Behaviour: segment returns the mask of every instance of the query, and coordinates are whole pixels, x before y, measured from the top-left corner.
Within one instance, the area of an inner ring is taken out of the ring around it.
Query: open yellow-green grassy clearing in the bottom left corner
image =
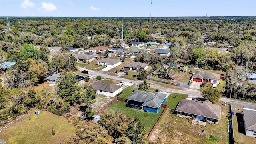
[[[30,110],[23,118],[4,129],[0,139],[8,144],[64,144],[67,138],[75,135],[75,129],[64,117],[42,110],[36,115]]]

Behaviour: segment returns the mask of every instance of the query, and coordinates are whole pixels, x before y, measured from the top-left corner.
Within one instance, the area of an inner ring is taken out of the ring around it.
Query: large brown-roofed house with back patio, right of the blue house
[[[180,100],[176,108],[177,116],[193,117],[197,120],[205,120],[218,124],[221,118],[221,106],[212,104],[209,100]]]

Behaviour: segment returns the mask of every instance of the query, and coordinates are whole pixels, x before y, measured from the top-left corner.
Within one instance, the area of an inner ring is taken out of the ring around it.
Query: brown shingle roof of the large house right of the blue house
[[[221,106],[212,104],[209,100],[201,102],[197,100],[182,99],[180,100],[176,111],[204,116],[207,118],[214,118],[217,120],[220,120],[221,118]]]

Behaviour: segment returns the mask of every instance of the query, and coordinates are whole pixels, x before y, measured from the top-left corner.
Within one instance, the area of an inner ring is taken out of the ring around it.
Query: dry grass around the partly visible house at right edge
[[[233,115],[233,128],[234,128],[234,138],[235,138],[235,144],[256,144],[256,138],[246,136],[244,126],[238,126],[238,120],[241,121],[242,115],[237,114],[236,112],[241,112],[243,110],[242,105],[232,104],[232,111],[235,112],[235,115]],[[236,108],[236,110],[234,110]]]

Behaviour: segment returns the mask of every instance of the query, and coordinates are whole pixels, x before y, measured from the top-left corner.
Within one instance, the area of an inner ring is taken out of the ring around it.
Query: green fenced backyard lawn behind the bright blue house
[[[109,106],[107,109],[109,112],[122,112],[126,116],[130,118],[139,118],[140,122],[145,126],[146,128],[146,136],[150,132],[150,130],[153,128],[154,124],[162,114],[164,108],[161,108],[158,114],[152,113],[152,112],[143,112],[141,110],[135,110],[133,108],[127,108],[125,102],[116,101],[114,104]]]

